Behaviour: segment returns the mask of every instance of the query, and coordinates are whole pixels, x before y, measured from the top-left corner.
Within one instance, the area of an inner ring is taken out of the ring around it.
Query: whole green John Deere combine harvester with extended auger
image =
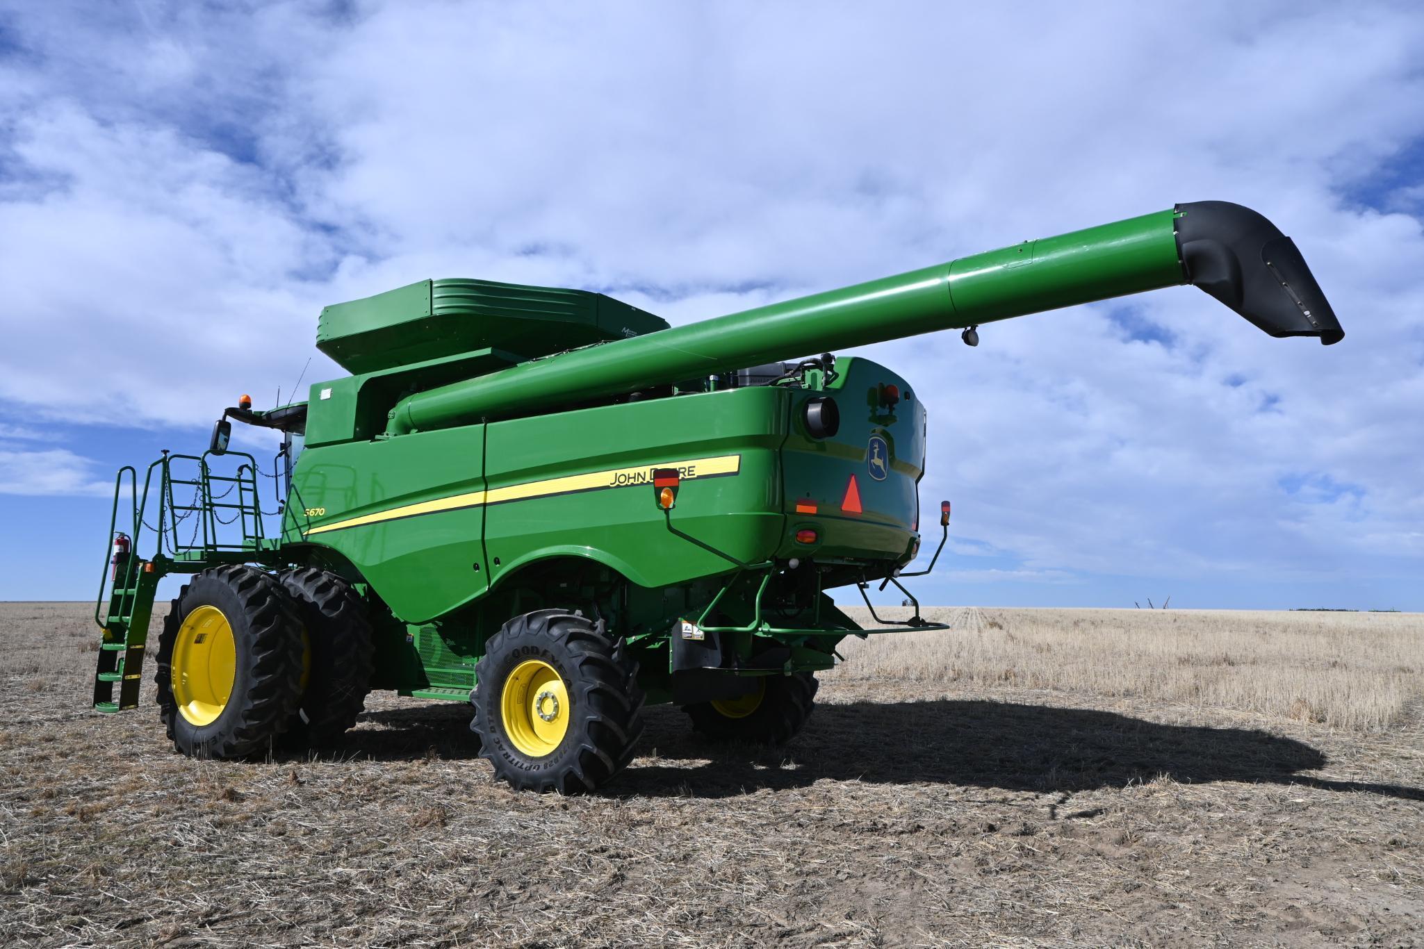
[[[155,588],[189,573],[152,663],[184,754],[332,743],[372,689],[470,701],[498,777],[540,791],[618,774],[645,700],[786,741],[836,643],[880,632],[824,590],[911,576],[926,411],[870,360],[782,360],[946,329],[974,346],[983,323],[1186,283],[1270,336],[1343,336],[1294,243],[1225,202],[676,329],[486,280],[329,306],[316,346],[350,376],[244,397],[141,488],[120,471],[94,707],[137,707]],[[283,433],[272,475],[229,420]],[[286,495],[276,536],[259,477]],[[899,629],[944,626],[916,608]]]

